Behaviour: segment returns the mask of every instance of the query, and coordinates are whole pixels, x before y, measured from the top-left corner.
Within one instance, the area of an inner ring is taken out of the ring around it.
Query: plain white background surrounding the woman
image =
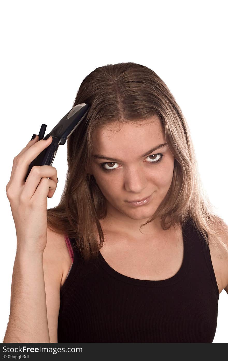
[[[1,307],[0,342],[10,312],[16,231],[5,186],[12,162],[72,108],[83,79],[98,66],[135,62],[162,78],[190,127],[205,190],[228,224],[226,1],[4,1],[1,3]],[[57,205],[66,146],[53,166]],[[228,295],[218,303],[213,342],[228,342]]]

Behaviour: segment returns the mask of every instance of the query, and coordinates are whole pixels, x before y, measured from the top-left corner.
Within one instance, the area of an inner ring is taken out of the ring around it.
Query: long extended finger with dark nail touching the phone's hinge
[[[25,184],[25,177],[29,168],[30,163],[52,142],[52,136],[47,140],[39,140],[28,147],[25,152],[17,157],[14,166],[12,185],[15,187],[22,186]],[[48,175],[47,175],[48,177]]]

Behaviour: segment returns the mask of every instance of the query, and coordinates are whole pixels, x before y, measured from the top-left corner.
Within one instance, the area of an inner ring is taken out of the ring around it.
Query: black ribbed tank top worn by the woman
[[[60,290],[58,342],[211,343],[219,290],[210,250],[190,221],[182,232],[182,265],[164,280],[120,274],[100,252],[85,265],[75,249]]]

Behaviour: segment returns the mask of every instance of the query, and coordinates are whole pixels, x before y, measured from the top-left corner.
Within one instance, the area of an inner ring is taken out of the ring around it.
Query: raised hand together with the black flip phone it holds
[[[43,139],[39,136],[14,158],[6,194],[10,202],[17,233],[17,252],[43,252],[47,244],[47,197],[56,190],[57,170],[52,165],[58,146],[65,144],[86,116],[89,105],[75,105]],[[29,169],[28,169],[29,167]]]

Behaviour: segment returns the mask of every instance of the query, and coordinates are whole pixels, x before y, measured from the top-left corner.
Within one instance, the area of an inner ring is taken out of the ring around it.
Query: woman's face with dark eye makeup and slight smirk
[[[115,123],[93,134],[91,174],[106,198],[108,214],[117,218],[150,218],[172,181],[174,156],[168,146],[151,150],[166,143],[161,121],[153,116],[140,124],[124,123],[119,130]],[[128,203],[148,196],[144,205]]]

